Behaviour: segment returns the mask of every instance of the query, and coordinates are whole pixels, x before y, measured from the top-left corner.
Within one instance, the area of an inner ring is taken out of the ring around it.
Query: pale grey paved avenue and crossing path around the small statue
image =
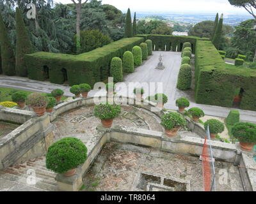
[[[159,62],[159,54],[163,55],[163,63],[166,67],[164,70],[155,69]],[[180,52],[154,52],[154,54],[148,57],[148,60],[143,63],[142,66],[135,69],[134,73],[126,75],[124,77],[124,83],[117,84],[118,94],[128,94],[134,96],[132,87],[122,89],[123,85],[127,85],[128,82],[160,82],[163,83],[163,92],[168,96],[168,103],[165,108],[176,110],[175,100],[181,96],[188,97],[192,102],[190,107],[198,107],[204,110],[206,115],[212,115],[216,117],[227,117],[230,110],[239,110],[236,108],[224,108],[220,106],[212,105],[200,105],[196,104],[193,97],[189,96],[189,92],[181,92],[176,89],[177,77],[179,75],[179,68],[181,63]],[[142,84],[143,85],[143,84]],[[144,84],[147,85],[147,84]],[[135,84],[136,87],[139,87]],[[13,89],[23,89],[26,91],[37,91],[50,93],[53,89],[62,89],[65,92],[65,96],[74,96],[69,92],[70,87],[65,85],[51,84],[50,82],[38,82],[35,80],[29,80],[22,77],[7,77],[0,75],[0,87],[8,87]],[[150,93],[145,93],[145,96],[154,95],[157,91],[157,85],[154,89],[150,89]],[[89,96],[94,96],[96,91],[91,91]],[[105,91],[97,91],[97,95],[105,94]],[[241,120],[256,122],[256,112],[249,110],[239,110],[241,113]]]

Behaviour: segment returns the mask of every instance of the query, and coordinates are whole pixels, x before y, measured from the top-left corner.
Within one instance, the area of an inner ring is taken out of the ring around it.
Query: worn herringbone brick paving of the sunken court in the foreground
[[[231,163],[220,161],[216,161],[215,165],[217,191],[243,191],[237,167]],[[226,183],[225,181],[222,182],[221,179],[223,171],[227,172],[228,175]],[[159,150],[112,142],[105,145],[84,177],[82,191],[132,191],[134,181],[136,181],[136,177],[141,175],[141,172],[147,172],[152,176],[150,176],[151,179],[146,180],[146,183],[144,181],[144,184],[137,185],[135,182],[138,191],[147,191],[147,182],[151,185],[152,182],[153,185],[156,184],[155,186],[159,185],[159,181],[154,175],[190,182],[191,191],[203,190],[202,162],[198,157],[170,154]],[[155,191],[184,190],[184,188],[177,186],[173,187],[173,182],[164,189],[161,189],[161,186],[153,187]]]

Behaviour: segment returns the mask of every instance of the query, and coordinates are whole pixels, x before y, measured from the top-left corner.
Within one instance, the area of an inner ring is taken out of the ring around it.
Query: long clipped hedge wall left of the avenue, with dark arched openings
[[[68,80],[70,86],[89,84],[93,87],[96,82],[104,81],[109,77],[113,57],[123,57],[125,51],[131,51],[143,41],[144,38],[141,37],[124,38],[80,55],[50,52],[28,54],[25,55],[28,77],[44,81],[46,79],[44,69],[48,68],[51,83],[63,84]]]

